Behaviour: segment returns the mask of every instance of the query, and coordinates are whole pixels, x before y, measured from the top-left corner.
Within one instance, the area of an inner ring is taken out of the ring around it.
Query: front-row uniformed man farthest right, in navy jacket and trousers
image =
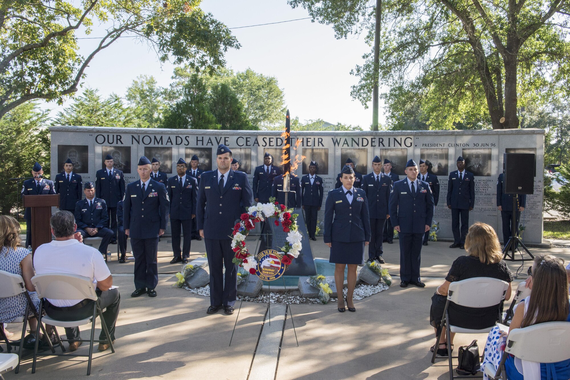
[[[417,178],[414,160],[406,164],[406,178],[396,181],[390,194],[390,219],[400,240],[400,286],[425,287],[420,280],[420,254],[424,234],[433,219],[434,203],[427,182]]]

